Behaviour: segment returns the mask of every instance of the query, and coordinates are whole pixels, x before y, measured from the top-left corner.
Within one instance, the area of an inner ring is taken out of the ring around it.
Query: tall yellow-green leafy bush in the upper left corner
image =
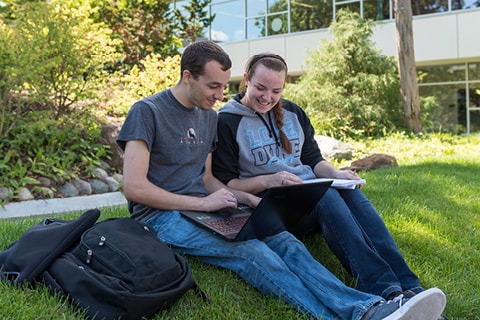
[[[88,6],[63,1],[24,3],[11,22],[15,41],[7,79],[18,78],[11,92],[21,92],[52,116],[68,114],[76,102],[91,97],[102,71],[115,60],[109,29],[88,18]]]

